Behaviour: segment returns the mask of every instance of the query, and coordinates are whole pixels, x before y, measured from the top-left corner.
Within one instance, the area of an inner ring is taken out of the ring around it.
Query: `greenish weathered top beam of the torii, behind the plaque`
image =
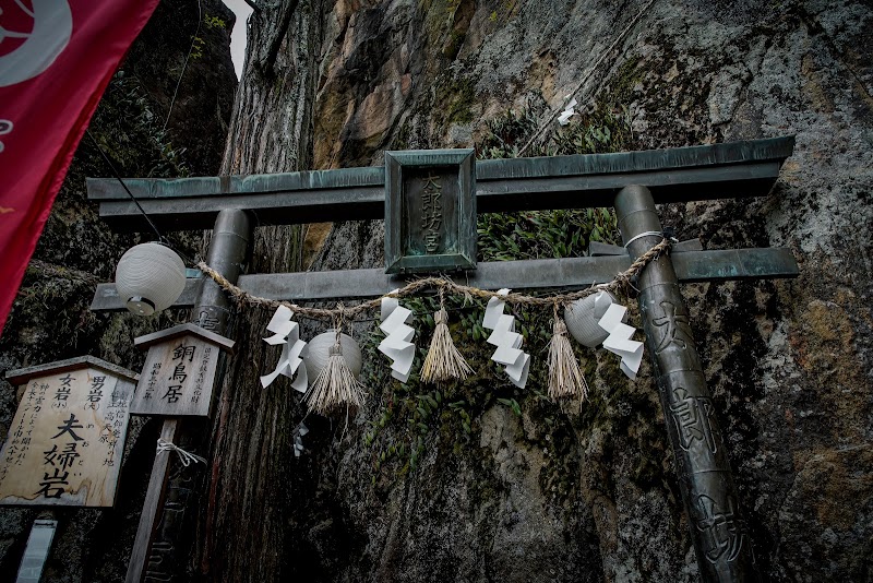
[[[629,185],[657,203],[766,195],[793,151],[793,136],[728,144],[539,158],[479,160],[480,213],[611,206]],[[222,209],[254,211],[268,224],[384,218],[384,168],[348,168],[186,179],[127,179],[157,226],[210,228]],[[148,228],[115,179],[89,178],[88,197],[119,229]]]

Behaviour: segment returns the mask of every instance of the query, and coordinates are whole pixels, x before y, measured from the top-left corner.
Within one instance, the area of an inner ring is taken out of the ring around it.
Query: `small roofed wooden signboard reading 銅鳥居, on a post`
[[[148,348],[148,354],[130,406],[132,415],[210,416],[218,353],[232,352],[232,341],[181,324],[134,343]]]

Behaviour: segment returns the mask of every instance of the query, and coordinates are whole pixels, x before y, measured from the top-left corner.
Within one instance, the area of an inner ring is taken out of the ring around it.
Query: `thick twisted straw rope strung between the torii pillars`
[[[336,321],[337,319],[340,320],[354,319],[358,314],[367,312],[368,310],[379,308],[381,306],[383,298],[402,298],[402,297],[414,296],[420,289],[426,289],[426,288],[435,288],[442,293],[464,295],[467,297],[474,296],[481,299],[490,299],[492,297],[500,296],[501,300],[506,301],[509,304],[526,305],[526,306],[566,305],[601,290],[619,293],[621,288],[626,288],[631,286],[631,281],[637,275],[639,275],[639,273],[643,271],[643,269],[645,269],[645,266],[648,263],[655,261],[661,253],[668,251],[670,248],[670,243],[671,243],[670,239],[667,238],[662,239],[660,242],[651,247],[648,251],[639,255],[627,270],[617,274],[615,277],[609,283],[599,284],[596,286],[591,286],[587,289],[581,289],[578,291],[571,291],[567,294],[559,294],[555,296],[548,296],[548,297],[527,296],[524,294],[514,294],[514,293],[510,293],[506,295],[499,295],[497,291],[490,291],[488,289],[479,289],[478,287],[461,285],[445,277],[422,277],[420,279],[416,279],[414,282],[408,283],[406,286],[397,289],[396,291],[393,291],[391,294],[385,294],[382,297],[364,301],[357,306],[346,307],[340,302],[337,305],[336,308],[308,308],[306,306],[299,306],[297,304],[290,304],[288,301],[279,301],[276,299],[268,299],[259,296],[253,296],[248,291],[244,291],[243,289],[240,289],[238,286],[228,282],[220,273],[218,273],[204,262],[198,263],[198,269],[202,271],[204,274],[208,275],[216,284],[218,284],[219,287],[222,287],[222,289],[224,289],[230,296],[230,298],[235,302],[239,305],[271,308],[271,309],[278,308],[279,306],[286,306],[290,308],[297,316],[302,316],[319,320],[331,319]]]

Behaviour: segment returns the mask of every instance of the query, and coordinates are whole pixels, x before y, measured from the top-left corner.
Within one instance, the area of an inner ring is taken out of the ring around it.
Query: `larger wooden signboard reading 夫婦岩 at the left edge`
[[[111,507],[136,379],[92,356],[7,373],[23,394],[0,451],[0,503]]]

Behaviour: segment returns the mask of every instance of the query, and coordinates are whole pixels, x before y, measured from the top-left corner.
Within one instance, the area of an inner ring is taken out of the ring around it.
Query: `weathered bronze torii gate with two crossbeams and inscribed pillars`
[[[477,206],[478,212],[494,213],[614,205],[626,250],[598,246],[599,253],[593,249],[591,255],[602,257],[480,263],[463,274],[465,283],[480,288],[570,290],[611,281],[660,240],[656,203],[767,195],[793,145],[793,138],[778,138],[475,164],[471,151],[415,151],[388,153],[386,168],[124,182],[160,229],[210,228],[214,224],[207,262],[246,291],[291,301],[378,297],[398,287],[404,276],[381,269],[241,275],[251,237],[248,213],[268,216],[272,224],[383,218],[386,206],[390,210],[396,204],[392,203],[398,188],[392,177],[396,170],[392,170],[392,159],[402,158],[406,167],[427,169],[464,158],[469,166],[466,183],[474,201],[474,221]],[[464,190],[464,180],[458,185]],[[88,197],[100,203],[100,216],[111,226],[147,228],[117,180],[88,179],[87,188]],[[386,248],[392,254],[398,237],[386,229]],[[646,344],[655,364],[701,578],[706,582],[755,581],[758,573],[751,540],[679,283],[794,277],[798,265],[786,248],[703,251],[692,243],[680,245],[674,251],[680,250],[683,252],[650,263],[636,284]],[[226,331],[228,302],[211,279],[189,279],[175,307],[194,307],[196,323],[214,332]],[[123,309],[112,284],[98,286],[92,309]],[[165,421],[164,438],[171,440],[178,425],[175,419]],[[162,505],[167,464],[168,456],[155,461],[129,582],[142,580],[146,560],[146,578],[159,575],[160,566],[166,563],[160,554],[171,550],[166,540],[153,540],[162,515],[166,522],[168,509],[162,510]]]

